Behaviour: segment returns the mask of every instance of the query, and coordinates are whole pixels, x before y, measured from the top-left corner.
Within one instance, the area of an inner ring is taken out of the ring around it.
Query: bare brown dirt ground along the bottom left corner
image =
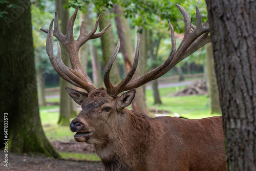
[[[8,167],[4,166],[3,150],[0,151],[1,165],[3,171],[80,171],[80,170],[104,170],[101,163],[89,163],[84,161],[71,161],[53,159],[50,157],[18,155],[8,152]]]

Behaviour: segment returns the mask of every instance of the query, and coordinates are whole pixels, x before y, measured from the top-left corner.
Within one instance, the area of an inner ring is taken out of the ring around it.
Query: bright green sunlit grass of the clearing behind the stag
[[[181,90],[182,87],[162,88],[159,89],[162,105],[154,104],[154,97],[152,90],[146,90],[146,104],[148,108],[169,111],[173,116],[173,113],[178,113],[183,117],[189,119],[198,119],[211,116],[220,116],[221,114],[210,115],[209,114],[209,98],[207,96],[180,96],[169,97],[168,95]],[[59,98],[47,99],[48,102],[58,102]],[[129,106],[131,110],[131,107]],[[40,108],[40,119],[47,138],[51,141],[61,140],[70,141],[73,140],[74,133],[69,130],[69,126],[58,126],[57,121],[59,118],[59,106],[47,106]],[[73,119],[73,118],[72,118]],[[59,152],[60,156],[65,159],[79,159],[79,160],[91,160],[99,161],[100,159],[95,154],[78,154],[78,153],[66,153]]]

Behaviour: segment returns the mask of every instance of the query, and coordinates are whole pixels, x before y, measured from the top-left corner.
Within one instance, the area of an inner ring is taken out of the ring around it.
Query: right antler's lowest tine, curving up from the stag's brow
[[[108,94],[113,94],[114,93],[113,91],[116,90],[116,89],[114,89],[114,87],[113,87],[113,85],[110,81],[110,70],[111,70],[111,68],[113,66],[113,63],[116,59],[116,56],[118,54],[119,47],[120,47],[120,40],[118,39],[116,49],[114,50],[114,53],[112,54],[112,56],[109,60],[109,63],[108,63],[108,65],[106,65],[106,68],[105,68],[105,71],[104,71],[103,80],[104,80],[104,84],[105,84],[105,87],[106,87],[106,90],[107,90]]]

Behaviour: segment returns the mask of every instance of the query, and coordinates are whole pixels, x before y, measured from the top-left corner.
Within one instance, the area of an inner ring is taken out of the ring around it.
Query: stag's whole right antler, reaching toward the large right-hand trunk
[[[202,25],[202,18],[199,9],[196,7],[196,18],[197,18],[197,27],[195,27],[193,24],[191,24],[191,18],[188,12],[181,7],[180,5],[176,4],[176,6],[181,11],[183,17],[184,17],[184,24],[185,24],[185,31],[184,31],[184,37],[183,40],[179,46],[179,48],[176,51],[176,41],[175,41],[175,35],[174,35],[174,29],[172,24],[169,23],[170,26],[170,33],[172,38],[172,50],[170,51],[170,54],[168,58],[156,69],[147,72],[143,76],[134,79],[132,81],[131,78],[133,74],[135,73],[135,70],[137,68],[138,63],[138,51],[139,51],[139,37],[137,42],[137,49],[136,49],[136,55],[134,59],[134,64],[130,70],[130,72],[127,74],[127,76],[116,85],[112,85],[109,79],[109,72],[111,70],[111,67],[113,65],[113,62],[116,58],[117,52],[119,50],[119,42],[117,44],[117,48],[112,55],[108,66],[106,66],[106,70],[104,73],[104,83],[106,86],[106,89],[108,91],[108,94],[112,97],[115,97],[117,94],[138,88],[142,86],[143,84],[152,81],[154,79],[157,79],[167,73],[170,69],[175,67],[177,63],[179,63],[181,60],[189,56],[190,54],[197,51],[199,48],[203,47],[205,44],[210,42],[209,37],[209,27],[206,27],[208,25],[208,22],[205,22]]]

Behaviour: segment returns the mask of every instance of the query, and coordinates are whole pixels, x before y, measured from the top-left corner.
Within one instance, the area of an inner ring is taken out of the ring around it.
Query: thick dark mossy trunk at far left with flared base
[[[1,146],[8,141],[8,152],[35,153],[59,157],[42,131],[37,99],[30,1],[10,1],[18,8],[0,6],[8,14],[0,18],[0,109]],[[8,113],[5,114],[5,113]],[[4,137],[4,115],[8,135]],[[6,117],[6,118],[7,118]]]

